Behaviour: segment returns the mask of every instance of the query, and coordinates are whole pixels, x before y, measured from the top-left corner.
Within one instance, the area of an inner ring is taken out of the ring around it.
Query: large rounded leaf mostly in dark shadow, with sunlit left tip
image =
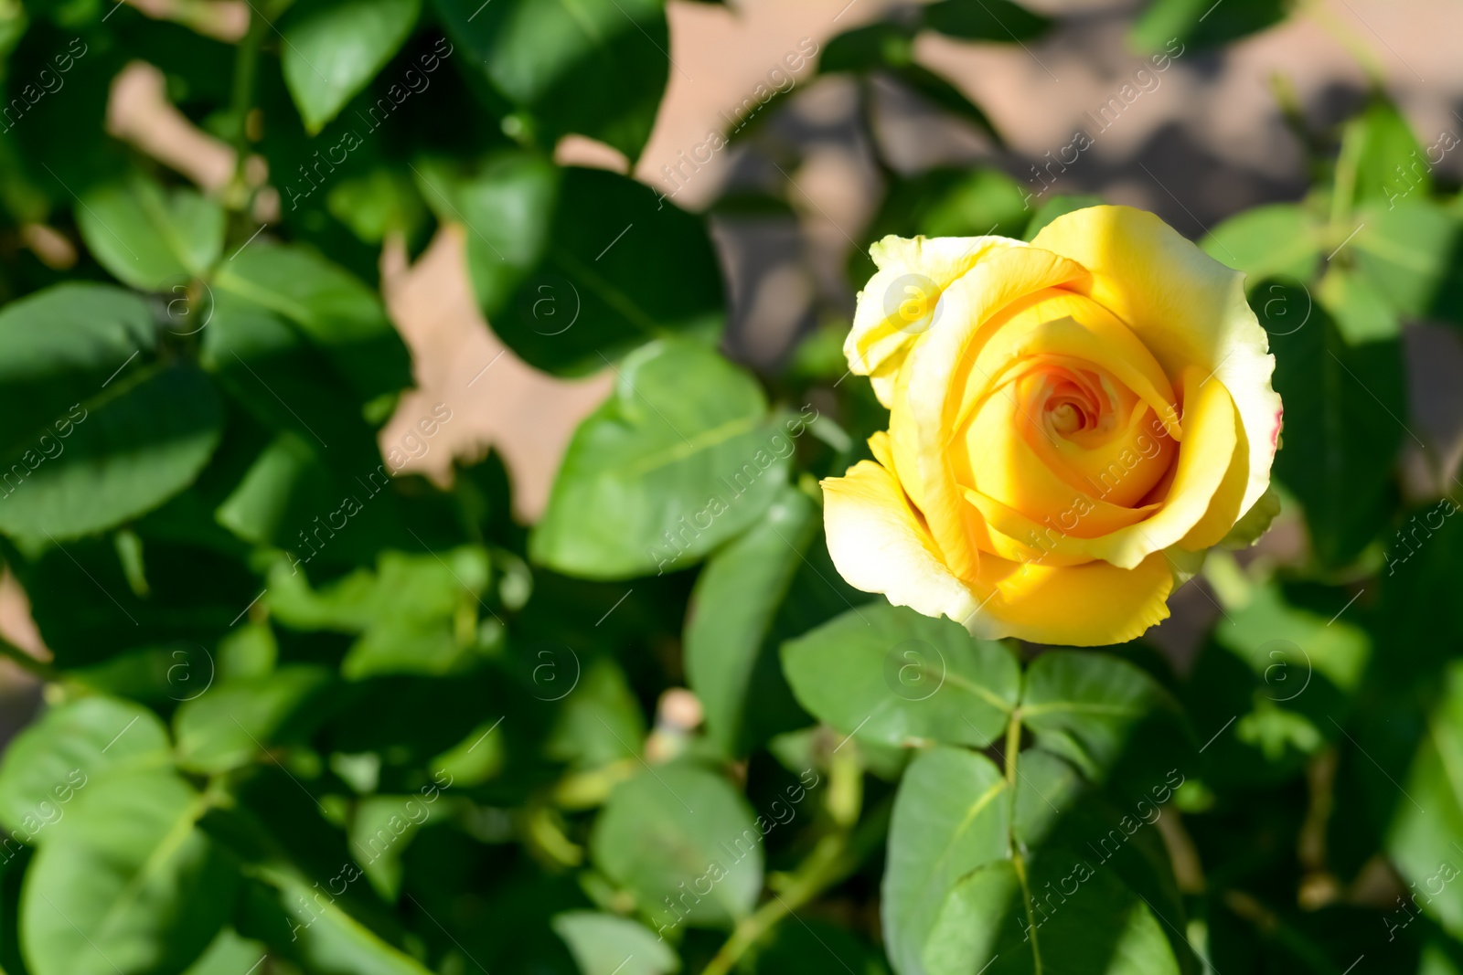
[[[720,335],[721,270],[702,218],[642,183],[512,155],[424,196],[456,199],[440,213],[467,224],[483,313],[531,365],[582,374],[658,336]]]

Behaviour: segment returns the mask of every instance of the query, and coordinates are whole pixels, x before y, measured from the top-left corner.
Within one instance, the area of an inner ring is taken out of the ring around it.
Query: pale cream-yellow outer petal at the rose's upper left
[[[859,292],[853,330],[844,339],[849,368],[868,376],[873,395],[891,405],[894,377],[910,348],[936,317],[939,295],[992,250],[1026,247],[1007,237],[885,237],[869,249],[879,270]],[[920,307],[923,316],[901,314]]]

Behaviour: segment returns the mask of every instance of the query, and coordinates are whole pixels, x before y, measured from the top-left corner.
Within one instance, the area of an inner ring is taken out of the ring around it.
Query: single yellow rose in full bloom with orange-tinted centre
[[[1099,646],[1169,615],[1270,485],[1274,358],[1244,275],[1125,206],[873,246],[844,344],[890,408],[824,481],[843,577],[976,636]]]

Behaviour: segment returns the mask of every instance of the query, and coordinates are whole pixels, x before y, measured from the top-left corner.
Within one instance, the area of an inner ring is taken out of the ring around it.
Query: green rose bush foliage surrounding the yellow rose
[[[1156,0],[1131,42],[1285,13]],[[571,133],[641,155],[679,70],[661,0],[219,25],[0,3],[0,554],[54,655],[0,646],[45,700],[0,763],[0,971],[1463,972],[1463,520],[1402,354],[1410,323],[1463,326],[1463,205],[1432,174],[1456,136],[1423,148],[1372,91],[1298,130],[1305,199],[1203,241],[1270,332],[1265,503],[1304,544],[1213,555],[1175,672],[843,583],[816,479],[887,422],[847,320],[767,374],[718,351],[710,221],[791,221],[791,177],[708,218],[553,161]],[[1096,202],[881,151],[876,85],[1001,146],[922,31],[1052,26],[939,0],[789,54],[856,79],[885,183],[853,287],[885,234],[1030,240]],[[133,60],[236,151],[224,186],[108,134]],[[770,80],[704,145],[796,167]],[[411,383],[379,249],[443,225],[521,358],[614,374],[533,529],[496,455],[442,487],[379,446]],[[1429,497],[1400,490],[1413,446]]]

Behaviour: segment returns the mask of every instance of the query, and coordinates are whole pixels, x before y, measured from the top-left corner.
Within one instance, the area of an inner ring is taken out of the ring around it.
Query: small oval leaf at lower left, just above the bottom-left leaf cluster
[[[285,737],[291,719],[306,712],[329,680],[328,671],[297,664],[228,681],[184,702],[173,718],[178,765],[217,775],[255,762]]]

